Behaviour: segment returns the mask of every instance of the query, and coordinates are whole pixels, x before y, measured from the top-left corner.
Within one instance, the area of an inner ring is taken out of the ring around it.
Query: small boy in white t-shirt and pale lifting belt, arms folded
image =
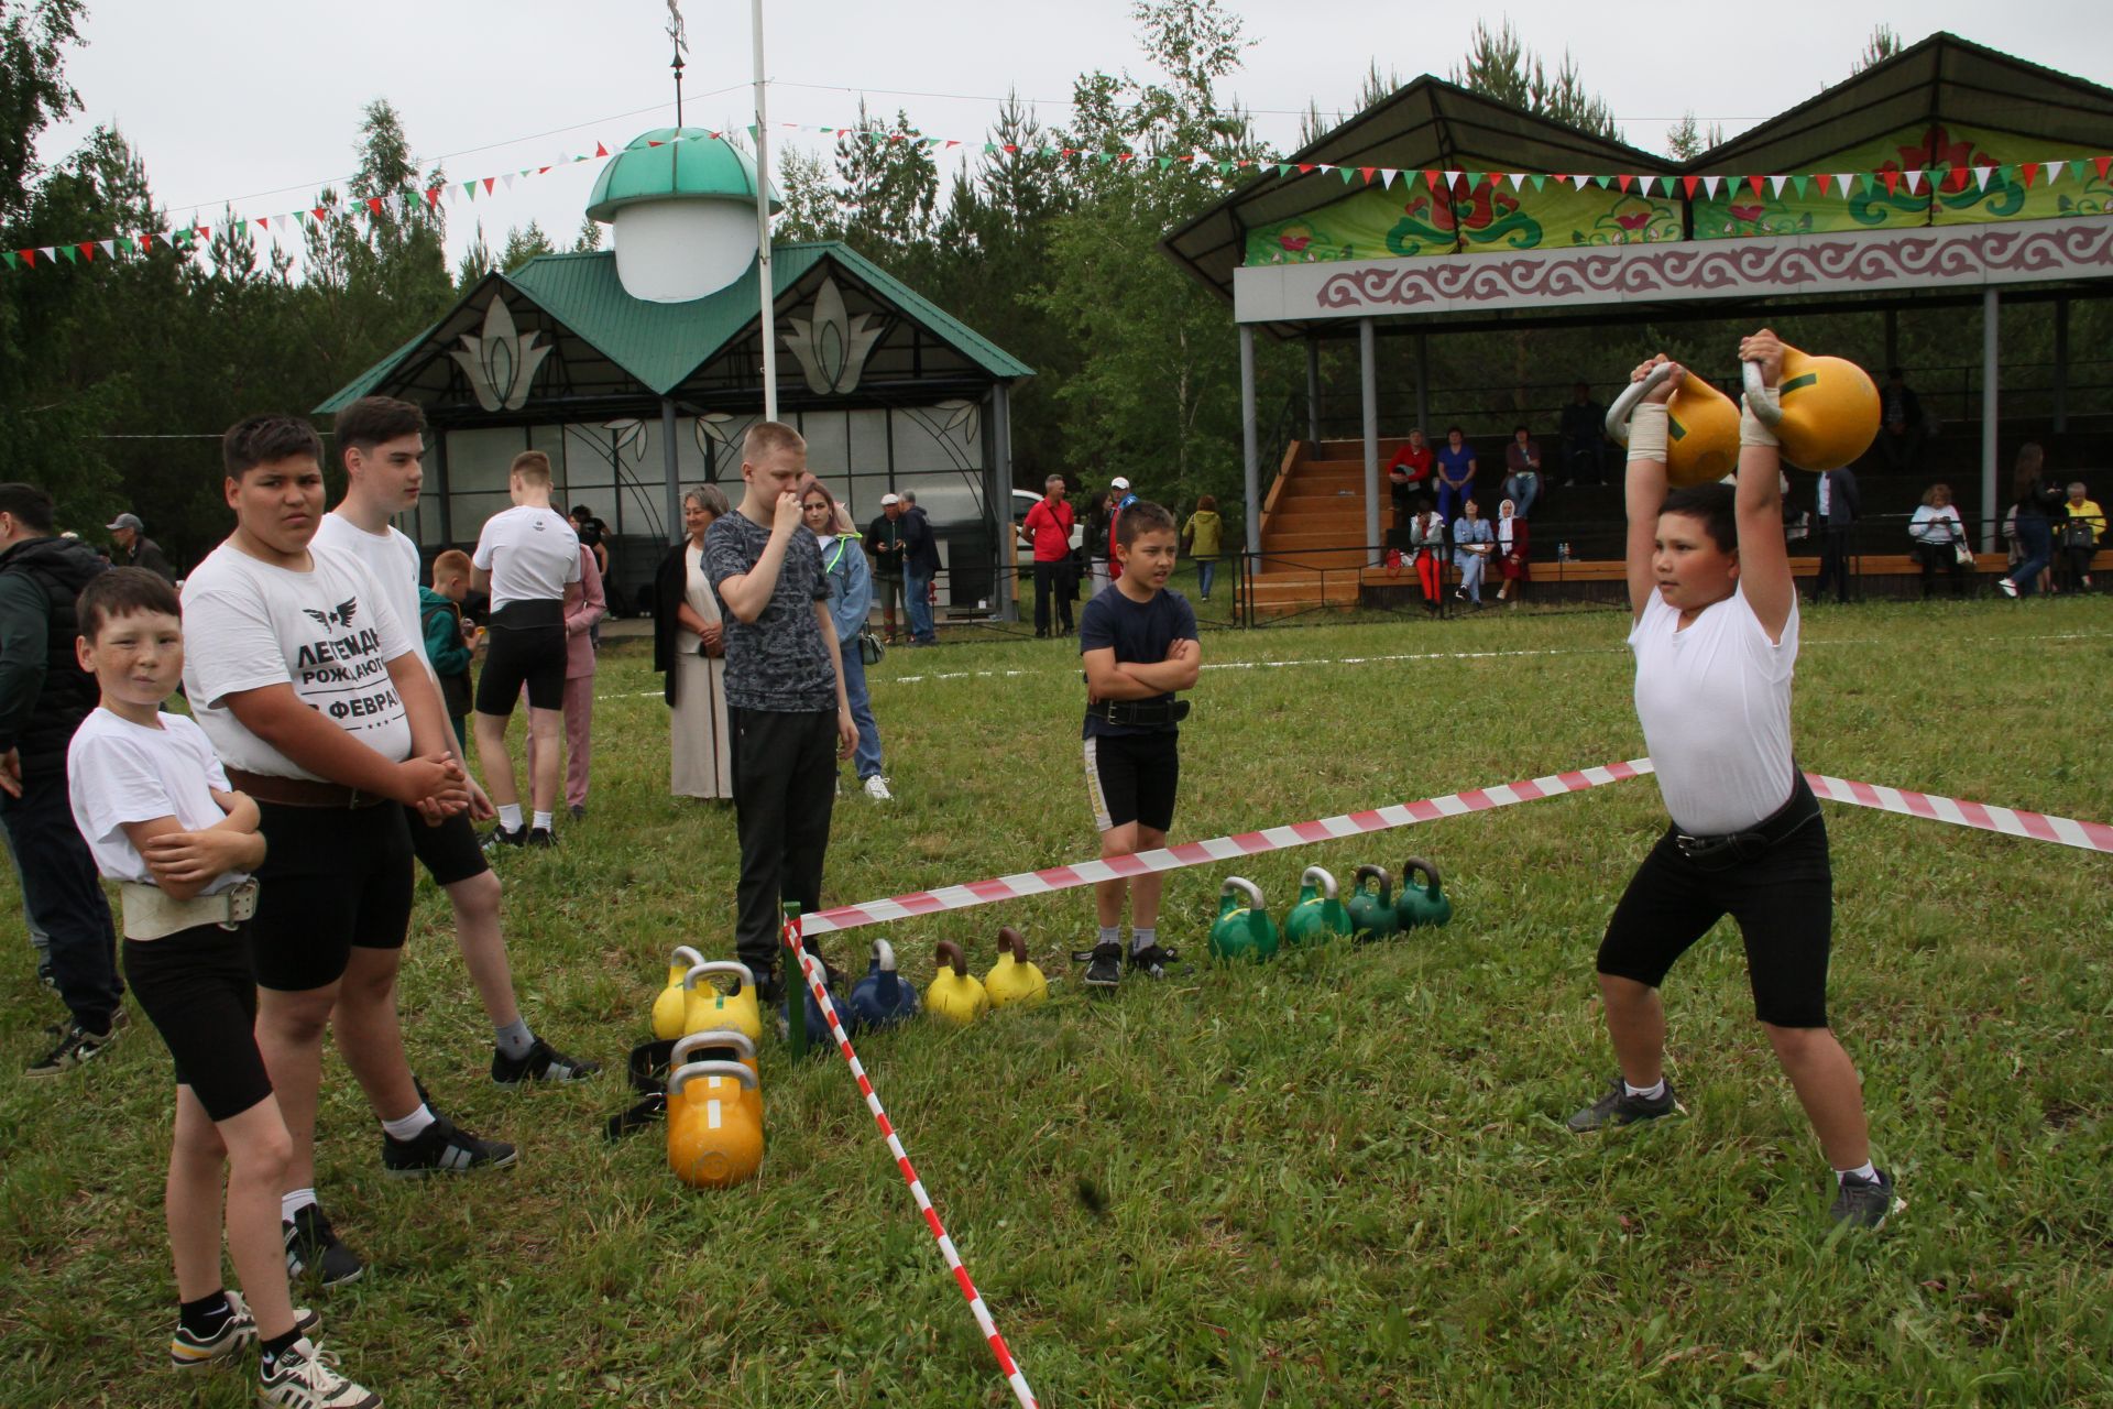
[[[76,621],[74,651],[101,703],[68,748],[68,796],[97,870],[123,883],[125,974],[175,1060],[169,1360],[213,1365],[260,1341],[264,1403],[372,1409],[380,1398],[317,1354],[319,1316],[287,1293],[279,1187],[289,1136],[251,1033],[258,805],[228,784],[203,729],[161,712],[184,674],[175,587],[146,568],[104,572],[80,591]],[[228,1257],[247,1301],[220,1270],[222,1168]]]

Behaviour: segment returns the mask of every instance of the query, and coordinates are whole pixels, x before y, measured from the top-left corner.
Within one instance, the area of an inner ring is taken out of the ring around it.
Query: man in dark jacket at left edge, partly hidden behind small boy
[[[104,572],[95,549],[55,539],[51,494],[0,484],[0,824],[23,900],[51,936],[51,978],[72,1012],[30,1075],[59,1075],[116,1037],[116,929],[66,796],[66,746],[99,699],[74,655],[74,598]]]

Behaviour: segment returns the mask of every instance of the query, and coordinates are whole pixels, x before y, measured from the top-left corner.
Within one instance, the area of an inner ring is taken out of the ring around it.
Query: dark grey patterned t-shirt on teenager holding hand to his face
[[[769,541],[771,530],[740,509],[718,515],[704,530],[704,577],[727,623],[727,703],[775,714],[835,712],[837,672],[814,615],[816,602],[828,602],[828,575],[814,534],[805,528],[792,532],[778,587],[754,621],[735,617],[718,591],[729,577],[752,572]]]

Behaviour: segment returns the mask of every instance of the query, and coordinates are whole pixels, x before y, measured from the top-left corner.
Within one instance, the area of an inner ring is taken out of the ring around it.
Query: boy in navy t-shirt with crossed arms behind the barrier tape
[[[1175,518],[1135,501],[1116,518],[1122,577],[1086,602],[1078,651],[1086,665],[1086,796],[1101,832],[1101,860],[1166,845],[1181,779],[1179,720],[1196,687],[1202,646],[1196,610],[1166,591],[1181,539]],[[1130,967],[1164,978],[1173,953],[1160,948],[1160,875],[1101,881],[1092,887],[1101,934],[1086,963],[1086,984],[1114,989],[1122,978],[1122,898],[1130,898]]]

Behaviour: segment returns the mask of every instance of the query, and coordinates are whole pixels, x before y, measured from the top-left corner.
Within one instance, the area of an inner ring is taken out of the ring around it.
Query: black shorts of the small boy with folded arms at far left
[[[249,925],[125,940],[125,978],[175,1058],[177,1086],[188,1086],[207,1115],[230,1120],[270,1094],[256,1039]]]

